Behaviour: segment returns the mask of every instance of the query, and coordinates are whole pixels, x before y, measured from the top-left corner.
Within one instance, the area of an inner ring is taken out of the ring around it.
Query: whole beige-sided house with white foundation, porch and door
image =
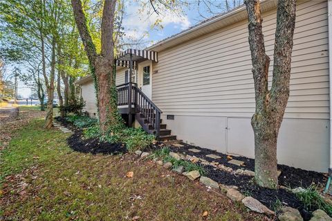
[[[276,5],[277,1],[261,2],[270,75]],[[332,38],[328,1],[297,1],[296,14],[291,95],[279,133],[278,163],[327,172]],[[130,55],[135,67],[131,78],[127,68]],[[250,118],[255,112],[255,94],[244,6],[145,51],[126,51],[118,56],[118,64],[124,66],[116,73],[118,105],[127,122],[131,115],[131,121],[160,139],[177,137],[219,152],[254,157]],[[88,76],[77,84],[86,101],[85,110],[93,116],[97,113],[93,80]]]

